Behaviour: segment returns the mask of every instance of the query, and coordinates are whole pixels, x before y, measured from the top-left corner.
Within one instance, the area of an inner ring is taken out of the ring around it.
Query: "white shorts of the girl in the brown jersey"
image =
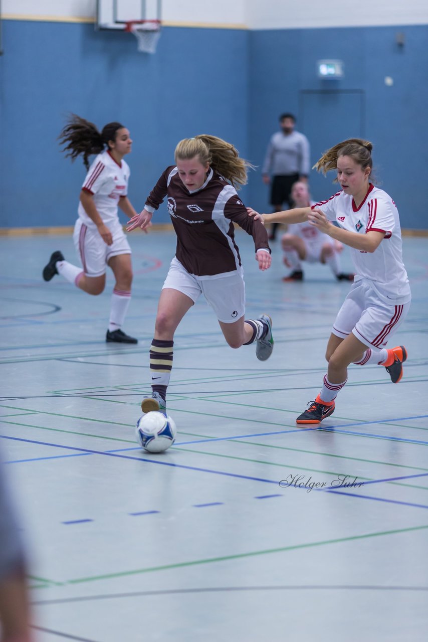
[[[167,273],[164,288],[178,290],[194,303],[203,294],[222,323],[234,323],[245,313],[245,284],[243,270],[230,276],[200,279],[185,270],[180,261],[173,258]]]

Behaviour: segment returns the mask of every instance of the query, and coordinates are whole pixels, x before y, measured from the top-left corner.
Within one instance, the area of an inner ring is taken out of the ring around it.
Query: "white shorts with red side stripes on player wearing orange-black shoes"
[[[389,306],[382,302],[370,284],[356,281],[339,309],[332,333],[345,339],[352,332],[361,343],[380,350],[398,330],[410,302]]]

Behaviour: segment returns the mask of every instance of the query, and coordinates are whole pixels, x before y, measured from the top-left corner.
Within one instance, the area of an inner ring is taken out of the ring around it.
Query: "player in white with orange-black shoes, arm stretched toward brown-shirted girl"
[[[350,363],[382,365],[393,383],[402,377],[406,348],[386,346],[407,316],[411,292],[402,261],[397,207],[370,182],[372,147],[368,141],[350,139],[318,160],[318,171],[336,169],[338,174],[341,191],[329,200],[275,214],[249,211],[264,222],[309,220],[320,232],[352,248],[356,275],[327,345],[329,368],[320,394],[296,419],[298,424],[318,424],[334,412],[334,399],[347,383]],[[330,221],[337,221],[339,227]]]

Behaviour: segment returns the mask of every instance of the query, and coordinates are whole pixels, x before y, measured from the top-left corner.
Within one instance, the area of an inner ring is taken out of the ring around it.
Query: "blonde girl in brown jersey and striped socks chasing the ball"
[[[256,342],[256,355],[268,359],[273,349],[271,318],[244,320],[245,290],[234,223],[254,239],[261,270],[271,265],[268,234],[261,221],[248,217],[235,187],[246,183],[250,164],[234,146],[220,138],[198,135],[180,141],[175,165],[159,178],[141,214],[128,231],[151,225],[153,212],[167,197],[177,235],[176,255],[164,282],[150,348],[153,394],[141,407],[166,411],[166,389],[173,363],[173,338],[185,313],[201,294],[214,309],[221,331],[232,348]]]

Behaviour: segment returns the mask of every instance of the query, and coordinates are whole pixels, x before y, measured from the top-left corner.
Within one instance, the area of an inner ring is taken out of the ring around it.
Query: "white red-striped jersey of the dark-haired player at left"
[[[121,196],[128,194],[130,168],[122,160],[119,165],[110,152],[101,152],[89,168],[89,172],[81,186],[83,191],[94,195],[94,204],[103,223],[117,223],[117,204]],[[87,215],[83,205],[79,203],[79,218],[88,227],[96,227],[94,221]]]

